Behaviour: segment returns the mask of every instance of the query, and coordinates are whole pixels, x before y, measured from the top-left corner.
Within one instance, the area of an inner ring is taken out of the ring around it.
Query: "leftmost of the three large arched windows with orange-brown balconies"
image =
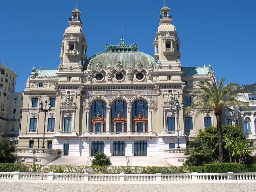
[[[106,132],[106,103],[95,101],[91,107],[91,132]]]

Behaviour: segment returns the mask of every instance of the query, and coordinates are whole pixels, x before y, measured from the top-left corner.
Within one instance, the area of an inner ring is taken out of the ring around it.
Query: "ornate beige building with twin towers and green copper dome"
[[[33,68],[27,80],[19,148],[41,148],[45,131],[46,148],[60,148],[62,155],[88,156],[96,148],[108,156],[163,156],[164,150],[177,148],[178,133],[180,147],[186,148],[205,121],[216,125],[212,114],[195,118],[194,111],[184,115],[182,108],[177,123],[175,100],[186,108],[193,102],[189,93],[214,72],[211,65],[182,67],[180,40],[167,6],[161,9],[154,58],[122,38],[87,59],[81,12],[71,13],[59,66]],[[45,100],[54,105],[44,130],[39,105]]]

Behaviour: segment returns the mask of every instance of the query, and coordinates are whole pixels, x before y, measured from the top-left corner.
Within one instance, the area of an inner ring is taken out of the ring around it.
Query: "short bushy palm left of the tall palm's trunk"
[[[190,156],[185,164],[202,165],[204,163],[209,163],[212,161],[212,153],[213,151],[210,148],[207,148],[200,140],[191,141],[184,153],[184,155]]]

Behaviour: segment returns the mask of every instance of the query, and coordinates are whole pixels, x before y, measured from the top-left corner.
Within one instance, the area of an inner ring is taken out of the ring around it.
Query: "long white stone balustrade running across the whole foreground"
[[[182,173],[182,174],[91,174],[91,173],[26,173],[0,172],[0,180],[64,180],[64,181],[197,181],[256,180],[256,173]]]

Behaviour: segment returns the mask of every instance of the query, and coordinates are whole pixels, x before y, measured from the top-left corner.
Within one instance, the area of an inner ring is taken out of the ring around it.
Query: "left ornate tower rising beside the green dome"
[[[83,61],[87,60],[86,51],[87,43],[82,30],[82,21],[80,19],[81,12],[77,9],[71,11],[72,18],[69,18],[68,24],[60,43],[61,63],[59,66],[61,70],[81,70]]]

